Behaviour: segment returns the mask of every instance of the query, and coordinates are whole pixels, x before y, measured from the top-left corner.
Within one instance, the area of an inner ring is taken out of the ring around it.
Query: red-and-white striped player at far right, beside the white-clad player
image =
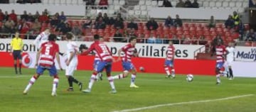
[[[225,46],[222,45],[221,40],[217,40],[217,45],[215,46],[215,55],[216,55],[215,74],[217,79],[216,84],[220,84],[220,74],[223,74],[225,53],[226,53]]]

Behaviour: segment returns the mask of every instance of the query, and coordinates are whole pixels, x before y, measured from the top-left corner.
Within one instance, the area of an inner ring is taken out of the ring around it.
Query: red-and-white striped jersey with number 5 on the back
[[[54,65],[54,59],[56,52],[59,52],[58,44],[53,41],[43,43],[41,45],[41,55],[38,60],[38,64],[43,67],[52,67]]]

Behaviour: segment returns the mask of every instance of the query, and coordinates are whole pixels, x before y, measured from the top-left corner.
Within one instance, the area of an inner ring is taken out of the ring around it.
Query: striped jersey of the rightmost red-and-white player
[[[216,49],[216,62],[225,62],[225,46],[224,45],[217,45]]]

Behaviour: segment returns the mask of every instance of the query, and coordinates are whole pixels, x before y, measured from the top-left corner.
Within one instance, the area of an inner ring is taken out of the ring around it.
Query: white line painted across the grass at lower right
[[[158,108],[161,106],[175,106],[175,105],[183,105],[183,104],[188,104],[188,103],[205,103],[205,102],[212,102],[212,101],[224,101],[224,100],[238,99],[238,98],[253,96],[253,95],[254,94],[245,94],[245,95],[231,96],[231,97],[226,97],[226,98],[221,98],[221,99],[209,99],[209,100],[203,100],[203,101],[188,101],[188,102],[179,102],[179,103],[166,103],[166,104],[160,104],[160,105],[155,105],[155,106],[145,106],[142,108],[132,108],[132,109],[125,109],[125,110],[121,110],[121,111],[113,111],[113,112],[141,111],[141,110],[146,110],[146,109],[150,109],[150,108]]]

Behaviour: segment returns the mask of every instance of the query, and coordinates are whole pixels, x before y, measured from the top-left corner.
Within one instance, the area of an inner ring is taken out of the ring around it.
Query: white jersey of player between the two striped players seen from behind
[[[70,58],[70,55],[71,55],[70,52],[74,52],[73,59],[71,60],[69,66],[77,66],[78,65],[78,55],[77,55],[78,51],[79,51],[78,45],[73,41],[69,41],[67,44],[67,58],[68,59]]]

